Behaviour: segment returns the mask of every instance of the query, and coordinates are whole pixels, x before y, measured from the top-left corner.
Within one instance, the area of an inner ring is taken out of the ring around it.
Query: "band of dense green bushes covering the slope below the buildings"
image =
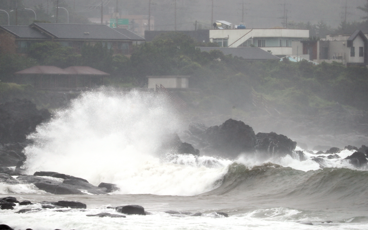
[[[182,97],[196,101],[197,108],[206,111],[252,109],[251,87],[281,111],[313,114],[336,103],[368,108],[366,67],[287,60],[247,62],[218,50],[201,52],[195,48],[198,45],[184,34],[167,33],[135,47],[127,58],[113,56],[101,42],[85,44],[81,55],[58,43],[39,43],[32,45],[29,58],[1,55],[0,79],[11,81],[11,73],[33,65],[86,65],[112,74],[110,84],[125,87],[145,87],[147,75],[191,75],[190,87],[202,93]]]

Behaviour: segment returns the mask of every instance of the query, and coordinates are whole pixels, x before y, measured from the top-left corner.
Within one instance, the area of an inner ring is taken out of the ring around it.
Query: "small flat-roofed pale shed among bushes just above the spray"
[[[162,85],[165,88],[189,88],[189,75],[147,76],[148,88]]]

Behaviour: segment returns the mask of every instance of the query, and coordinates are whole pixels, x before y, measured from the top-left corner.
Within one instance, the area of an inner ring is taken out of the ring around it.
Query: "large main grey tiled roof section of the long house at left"
[[[57,39],[131,40],[107,25],[33,23],[30,27],[37,27]]]

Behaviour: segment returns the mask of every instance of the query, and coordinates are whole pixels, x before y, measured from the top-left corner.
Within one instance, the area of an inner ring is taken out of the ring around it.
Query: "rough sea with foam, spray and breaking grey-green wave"
[[[367,168],[343,160],[353,151],[325,159],[323,169],[309,153],[307,160],[299,161],[292,156],[259,160],[244,153],[228,160],[157,151],[164,135],[185,128],[181,115],[159,95],[108,89],[81,95],[29,135],[34,144],[25,149],[27,173],[56,171],[94,185],[114,183],[121,190],[109,195],[53,195],[32,184],[0,183],[1,196],[19,201],[70,200],[87,205],[84,211],[42,209],[22,214],[15,212],[40,205],[17,205],[0,210],[0,223],[22,230],[368,229]],[[86,216],[119,214],[107,207],[129,204],[141,205],[152,215]],[[332,223],[322,223],[327,220]]]

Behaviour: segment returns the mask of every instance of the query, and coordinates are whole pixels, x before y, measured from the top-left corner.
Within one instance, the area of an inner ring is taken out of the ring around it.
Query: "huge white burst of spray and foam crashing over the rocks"
[[[25,149],[25,167],[28,174],[56,171],[94,185],[114,183],[120,194],[196,195],[212,190],[227,172],[226,161],[205,167],[200,162],[206,157],[180,156],[178,164],[156,152],[163,136],[178,129],[178,114],[165,97],[89,92],[28,136],[34,144]]]

